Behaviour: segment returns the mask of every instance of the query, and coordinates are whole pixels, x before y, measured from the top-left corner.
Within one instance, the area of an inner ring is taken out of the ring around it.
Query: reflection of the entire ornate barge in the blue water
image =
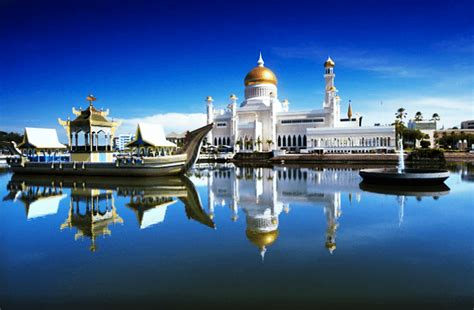
[[[128,198],[126,207],[136,214],[140,229],[163,222],[167,207],[177,199],[183,202],[189,219],[215,227],[202,209],[193,183],[186,177],[130,179],[14,175],[7,189],[8,195],[3,200],[23,203],[28,219],[56,214],[59,202],[69,196],[68,216],[60,229],[75,229],[74,240],[90,239],[91,251],[97,250],[98,237],[110,236],[113,225],[124,224],[115,206],[115,193]]]

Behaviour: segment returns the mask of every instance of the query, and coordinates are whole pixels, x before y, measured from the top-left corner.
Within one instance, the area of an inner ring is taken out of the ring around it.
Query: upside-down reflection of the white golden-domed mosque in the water
[[[227,206],[235,221],[238,208],[241,208],[245,214],[247,238],[259,248],[263,258],[267,247],[278,237],[278,218],[282,211],[288,213],[292,203],[321,205],[327,221],[325,246],[332,253],[336,248],[336,230],[341,216],[340,191],[355,192],[356,199],[360,200],[355,177],[357,175],[350,169],[227,167],[211,170],[209,213],[214,214],[217,206]],[[352,194],[349,197],[351,199]]]

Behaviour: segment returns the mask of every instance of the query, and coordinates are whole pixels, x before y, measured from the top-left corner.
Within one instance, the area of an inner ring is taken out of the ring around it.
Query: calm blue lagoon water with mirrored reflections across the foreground
[[[356,168],[188,178],[0,175],[0,308],[471,309],[474,169],[447,186]]]

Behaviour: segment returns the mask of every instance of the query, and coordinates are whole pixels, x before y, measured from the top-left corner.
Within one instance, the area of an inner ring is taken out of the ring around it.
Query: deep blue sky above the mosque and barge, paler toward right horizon
[[[321,106],[331,55],[365,125],[474,117],[474,1],[117,2],[0,1],[0,130],[58,127],[89,93],[125,119],[224,107],[260,50],[292,110]]]

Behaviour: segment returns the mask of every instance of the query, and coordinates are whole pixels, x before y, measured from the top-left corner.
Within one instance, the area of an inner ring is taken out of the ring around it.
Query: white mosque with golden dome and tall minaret
[[[206,98],[207,123],[215,123],[207,142],[227,145],[236,151],[272,151],[306,149],[316,152],[371,152],[394,150],[395,128],[362,127],[362,116],[341,115],[341,98],[334,85],[335,63],[324,63],[325,95],[322,108],[290,111],[288,100],[278,98],[278,80],[264,66],[262,55],[257,66],[244,79],[245,99],[230,96],[227,109],[215,109],[211,96]]]

